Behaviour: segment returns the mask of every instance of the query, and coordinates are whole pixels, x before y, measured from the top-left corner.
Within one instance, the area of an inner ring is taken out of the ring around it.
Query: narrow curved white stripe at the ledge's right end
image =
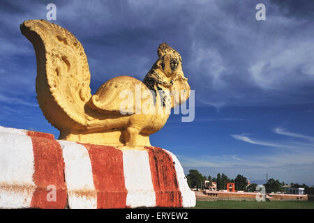
[[[179,190],[181,191],[182,196],[182,206],[184,208],[194,207],[196,204],[195,193],[192,190],[190,190],[190,187],[188,187],[188,182],[186,180],[186,176],[184,175],[184,169],[182,168],[179,160],[173,153],[165,149],[163,149],[163,151],[168,153],[172,157],[172,160],[174,162],[174,168],[176,169]]]

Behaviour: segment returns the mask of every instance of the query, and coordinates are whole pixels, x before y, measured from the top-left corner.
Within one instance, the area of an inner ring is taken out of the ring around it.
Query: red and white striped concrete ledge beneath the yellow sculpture
[[[121,151],[0,126],[0,208],[193,206],[181,164],[165,149]]]

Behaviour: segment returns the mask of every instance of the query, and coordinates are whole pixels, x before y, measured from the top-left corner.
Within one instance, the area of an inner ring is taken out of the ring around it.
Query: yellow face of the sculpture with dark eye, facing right
[[[158,47],[158,56],[156,65],[165,74],[165,82],[170,83],[168,88],[173,95],[172,107],[175,107],[185,102],[190,96],[188,79],[184,77],[182,70],[182,58],[177,51],[165,43]]]

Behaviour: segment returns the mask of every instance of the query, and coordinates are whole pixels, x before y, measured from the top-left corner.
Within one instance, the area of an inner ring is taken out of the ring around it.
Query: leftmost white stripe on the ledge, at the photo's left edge
[[[0,207],[29,208],[33,192],[33,144],[31,137],[14,129],[1,128],[0,134]],[[8,133],[8,134],[2,134]],[[24,132],[25,134],[25,132]]]

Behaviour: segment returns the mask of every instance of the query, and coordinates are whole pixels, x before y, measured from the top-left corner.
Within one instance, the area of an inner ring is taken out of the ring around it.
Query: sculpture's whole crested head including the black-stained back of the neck
[[[190,96],[188,79],[184,77],[182,70],[181,55],[167,43],[160,44],[157,53],[158,60],[149,70],[144,83],[149,89],[169,89],[172,94],[172,107],[176,107]]]

